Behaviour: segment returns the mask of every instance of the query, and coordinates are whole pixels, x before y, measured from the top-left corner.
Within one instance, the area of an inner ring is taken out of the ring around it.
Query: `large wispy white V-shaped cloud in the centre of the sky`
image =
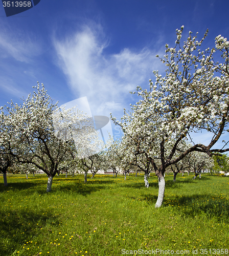
[[[104,38],[101,26],[84,26],[63,40],[54,38],[54,46],[76,97],[87,96],[95,115],[121,114],[130,103],[129,91],[138,85],[147,87],[161,62],[155,58],[158,52],[147,48],[105,54],[108,40]]]

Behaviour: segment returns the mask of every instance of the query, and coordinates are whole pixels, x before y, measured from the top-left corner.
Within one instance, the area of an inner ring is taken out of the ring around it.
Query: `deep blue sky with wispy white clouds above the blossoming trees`
[[[228,0],[41,0],[10,17],[0,7],[0,105],[20,103],[39,81],[59,105],[86,96],[93,115],[120,119],[138,100],[129,91],[163,74],[155,55],[174,46],[175,30],[184,25],[185,40],[209,29],[202,46],[213,47],[229,37],[228,11]]]

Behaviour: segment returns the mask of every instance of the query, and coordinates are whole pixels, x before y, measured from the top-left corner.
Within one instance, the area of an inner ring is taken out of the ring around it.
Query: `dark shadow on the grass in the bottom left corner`
[[[36,236],[41,232],[44,237],[48,237],[49,233],[52,233],[59,224],[59,220],[53,216],[51,211],[43,215],[31,209],[29,211],[25,209],[7,210],[7,212],[2,209],[0,211],[0,254],[2,256],[12,255],[18,246],[26,244],[32,240],[31,238],[36,240]],[[49,229],[45,228],[47,225]]]

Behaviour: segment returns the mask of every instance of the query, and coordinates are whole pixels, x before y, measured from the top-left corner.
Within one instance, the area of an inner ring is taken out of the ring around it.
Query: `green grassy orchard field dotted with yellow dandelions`
[[[50,193],[44,175],[11,175],[8,187],[0,177],[0,255],[227,255],[229,177],[192,177],[166,176],[159,209],[155,176],[147,189],[143,175],[97,175],[87,184],[63,175]]]

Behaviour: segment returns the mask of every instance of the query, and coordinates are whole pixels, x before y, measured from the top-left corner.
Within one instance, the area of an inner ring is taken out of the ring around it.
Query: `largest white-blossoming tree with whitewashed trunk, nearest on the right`
[[[134,93],[142,99],[131,106],[130,113],[124,109],[121,121],[111,114],[124,136],[135,141],[135,152],[144,154],[153,165],[159,186],[155,207],[163,203],[167,167],[193,151],[209,156],[229,151],[227,142],[222,148],[214,148],[222,133],[229,131],[226,128],[229,121],[229,41],[219,35],[215,48],[200,50],[208,31],[200,41],[190,31],[182,45],[183,29],[184,26],[176,30],[175,46],[166,45],[166,54],[161,58],[167,66],[165,76],[154,71],[155,84],[150,80],[149,91],[137,87]],[[221,52],[221,63],[214,59],[217,51]],[[212,134],[211,141],[193,143],[185,152],[179,152],[179,143],[191,139],[191,132],[201,130]],[[160,161],[156,163],[158,158]]]

